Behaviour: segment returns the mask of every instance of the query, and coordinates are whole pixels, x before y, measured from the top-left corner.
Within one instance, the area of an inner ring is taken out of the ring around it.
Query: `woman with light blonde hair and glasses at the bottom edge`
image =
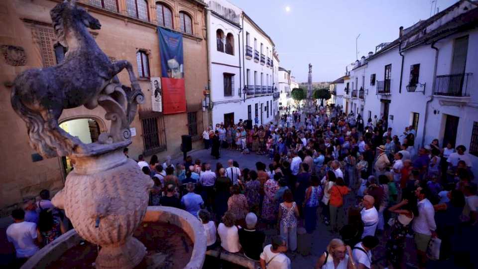
[[[317,261],[316,269],[355,269],[350,246],[334,238],[327,246],[327,251]]]

